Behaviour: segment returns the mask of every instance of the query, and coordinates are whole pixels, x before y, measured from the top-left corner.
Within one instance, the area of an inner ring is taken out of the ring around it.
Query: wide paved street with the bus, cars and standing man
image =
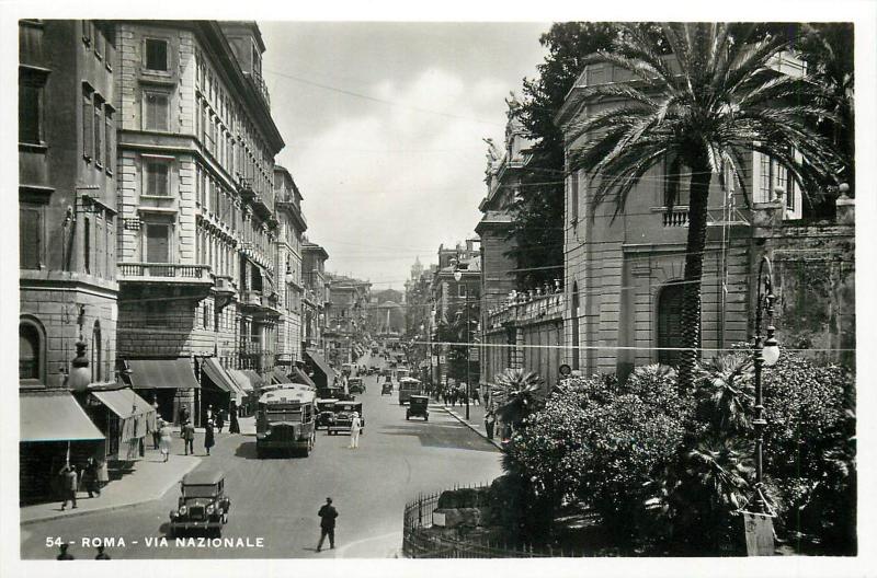
[[[367,392],[357,397],[366,417],[358,450],[348,449],[346,436],[321,430],[310,458],[258,460],[254,437],[223,434],[213,455],[202,460],[198,470],[220,467],[227,474],[232,504],[223,536],[263,537],[262,548],[176,547],[172,540],[167,547],[148,546],[145,539],[164,535],[179,495],[173,487],[159,500],[122,511],[25,525],[21,555],[54,558],[57,548],[45,542],[59,536],[77,541],[73,556],[91,558],[94,551],[81,547],[81,539],[107,536],[126,541],[124,548],[110,548],[114,558],[394,556],[408,499],[419,492],[492,479],[501,474],[500,454],[438,406],[431,407],[429,423],[406,421],[396,395],[381,396],[376,383],[366,378]],[[179,439],[174,443],[174,452],[182,453]],[[338,543],[334,551],[317,553],[317,509],[327,496],[340,512]]]

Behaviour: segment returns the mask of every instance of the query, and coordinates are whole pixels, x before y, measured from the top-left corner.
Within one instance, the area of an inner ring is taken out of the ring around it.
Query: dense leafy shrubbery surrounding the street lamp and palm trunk
[[[750,359],[741,350],[707,361],[687,393],[660,366],[637,368],[623,384],[566,380],[512,438],[505,484],[516,484],[515,501],[535,509],[532,523],[543,529],[565,502],[582,501],[619,543],[741,552],[736,512],[754,479]],[[765,490],[778,532],[822,553],[855,552],[853,375],[784,354],[762,378]]]

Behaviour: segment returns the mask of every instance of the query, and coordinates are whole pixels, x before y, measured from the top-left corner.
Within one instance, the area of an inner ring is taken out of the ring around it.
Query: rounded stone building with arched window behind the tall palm
[[[801,71],[800,63],[789,58],[779,59],[776,69]],[[623,104],[591,101],[585,89],[628,80],[628,73],[610,65],[589,66],[582,72],[556,117],[568,151],[589,138],[574,128],[582,118]],[[709,194],[702,278],[704,357],[751,335],[753,277],[761,255],[773,254],[772,247],[781,251],[777,255],[789,251],[801,256],[809,251],[800,246],[808,243],[808,235],[793,232],[793,223],[801,223],[807,215],[801,190],[785,171],[759,153],[743,159],[740,171],[745,192],[729,174],[730,185],[721,189],[714,180]],[[643,175],[617,216],[611,204],[593,206],[592,183],[582,172],[567,177],[565,361],[573,370],[623,377],[635,366],[676,362],[688,176],[687,169],[672,159],[659,164]],[[774,221],[785,223],[772,233],[756,227],[767,206],[774,207]],[[779,234],[781,229],[785,233]]]

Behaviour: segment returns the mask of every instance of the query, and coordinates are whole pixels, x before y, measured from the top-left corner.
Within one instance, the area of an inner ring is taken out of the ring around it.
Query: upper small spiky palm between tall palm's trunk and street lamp
[[[749,411],[754,397],[754,369],[751,356],[716,356],[703,366],[697,396],[716,434],[733,434],[749,428]]]

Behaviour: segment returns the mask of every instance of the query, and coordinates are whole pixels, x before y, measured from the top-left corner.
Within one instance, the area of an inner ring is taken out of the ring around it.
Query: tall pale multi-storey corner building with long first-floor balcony
[[[274,155],[283,139],[254,23],[115,24],[119,103],[118,357],[273,369],[280,282]],[[197,390],[159,398],[197,415]]]

